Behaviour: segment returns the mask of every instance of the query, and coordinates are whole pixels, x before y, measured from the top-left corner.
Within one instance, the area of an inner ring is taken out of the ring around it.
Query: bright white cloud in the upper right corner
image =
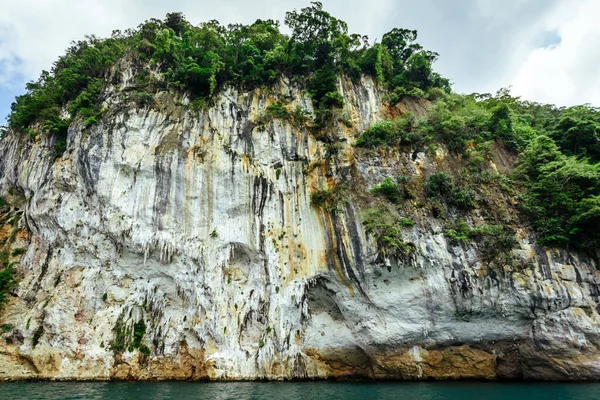
[[[570,1],[549,17],[560,44],[533,50],[518,70],[513,93],[558,105],[600,105],[600,2]]]

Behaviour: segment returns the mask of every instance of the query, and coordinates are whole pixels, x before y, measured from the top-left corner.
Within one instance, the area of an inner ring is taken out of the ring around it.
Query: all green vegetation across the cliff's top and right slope
[[[176,90],[186,93],[198,109],[225,84],[251,89],[285,77],[311,96],[312,125],[324,129],[335,108],[343,105],[338,76],[356,81],[366,74],[388,90],[391,105],[405,96],[428,97],[433,104],[424,117],[408,113],[377,123],[362,132],[357,146],[431,152],[442,142],[465,160],[468,174],[484,179],[494,143],[503,143],[518,154],[510,185],[540,242],[598,249],[599,109],[521,101],[507,90],[495,96],[453,94],[449,81],[432,70],[438,55],[416,42],[416,31],[395,28],[370,44],[367,37],[350,34],[346,23],[318,2],[286,13],[284,22],[289,35],[274,20],[228,26],[213,20],[194,26],[182,14],[171,13],[137,29],[115,31],[110,38],[87,37],[73,43],[51,71],[27,84],[27,92],[12,105],[9,128],[32,139],[41,133],[53,135],[56,153],[62,154],[73,119],[95,123],[103,112],[107,84],[123,68],[133,68],[135,88],[128,95],[139,106],[151,105],[154,93]],[[276,103],[264,119],[302,124],[308,117],[303,110]],[[432,204],[448,203],[462,210],[477,205],[473,182],[453,185],[440,174],[426,183]],[[393,203],[409,197],[406,189],[398,190],[389,180],[373,188],[373,194]],[[328,192],[318,195],[312,199],[315,204],[331,197]]]

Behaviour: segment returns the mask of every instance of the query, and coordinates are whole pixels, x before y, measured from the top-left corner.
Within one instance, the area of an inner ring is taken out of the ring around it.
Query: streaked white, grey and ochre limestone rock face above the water
[[[198,112],[166,92],[138,109],[128,85],[106,90],[97,124],[70,128],[60,158],[51,137],[0,141],[4,212],[22,215],[10,246],[26,248],[0,314],[0,379],[600,376],[595,261],[537,246],[509,195],[491,205],[521,224],[508,264],[449,241],[457,214],[434,218],[418,199],[399,211],[415,222],[403,256],[363,226],[385,177],[460,162],[442,145],[352,146],[423,102],[390,110],[368,78],[340,80],[343,122],[317,140],[262,118],[277,99],[312,112],[285,82],[224,89]],[[347,201],[311,204],[338,183]]]

